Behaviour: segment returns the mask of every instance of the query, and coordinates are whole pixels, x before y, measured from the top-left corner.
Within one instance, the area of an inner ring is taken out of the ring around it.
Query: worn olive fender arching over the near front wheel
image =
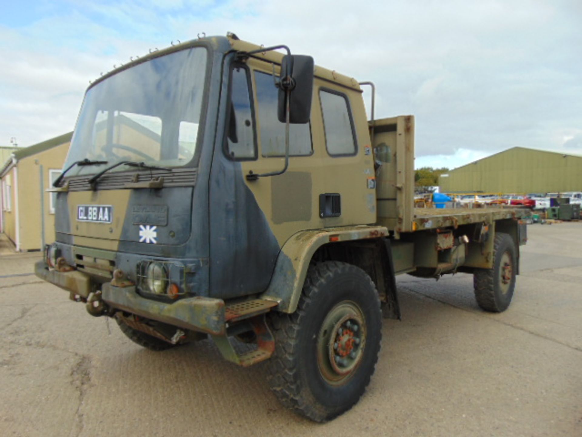
[[[276,309],[292,313],[297,309],[301,289],[307,276],[311,258],[317,249],[325,244],[342,241],[354,241],[388,236],[384,226],[346,226],[301,231],[289,238],[275,264],[271,283],[261,295],[261,299],[276,301]]]

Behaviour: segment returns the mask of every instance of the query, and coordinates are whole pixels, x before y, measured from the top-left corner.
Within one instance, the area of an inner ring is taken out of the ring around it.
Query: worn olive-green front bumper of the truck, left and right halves
[[[96,291],[91,278],[72,270],[58,272],[50,270],[44,261],[34,265],[34,273],[55,286],[87,299],[91,291]],[[191,297],[176,302],[152,301],[137,294],[136,287],[115,287],[111,283],[101,285],[103,301],[112,308],[130,312],[148,319],[158,320],[184,329],[205,332],[212,335],[226,334],[225,302],[222,299]]]

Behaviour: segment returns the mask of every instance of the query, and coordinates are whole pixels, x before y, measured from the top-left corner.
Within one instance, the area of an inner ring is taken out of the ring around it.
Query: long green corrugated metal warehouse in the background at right
[[[441,175],[442,193],[582,191],[582,156],[513,147]]]

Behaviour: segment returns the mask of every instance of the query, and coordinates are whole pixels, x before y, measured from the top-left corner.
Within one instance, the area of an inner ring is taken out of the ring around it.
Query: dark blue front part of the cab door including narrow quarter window
[[[225,122],[210,171],[210,295],[225,299],[264,291],[280,248],[244,178],[244,168],[258,159],[250,69],[230,65],[222,92]]]

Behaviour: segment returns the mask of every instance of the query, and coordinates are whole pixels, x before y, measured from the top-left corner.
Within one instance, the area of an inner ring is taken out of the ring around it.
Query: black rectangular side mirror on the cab
[[[313,58],[306,55],[285,55],[279,81],[279,121],[287,121],[289,90],[289,123],[307,123],[311,118],[313,96]]]

